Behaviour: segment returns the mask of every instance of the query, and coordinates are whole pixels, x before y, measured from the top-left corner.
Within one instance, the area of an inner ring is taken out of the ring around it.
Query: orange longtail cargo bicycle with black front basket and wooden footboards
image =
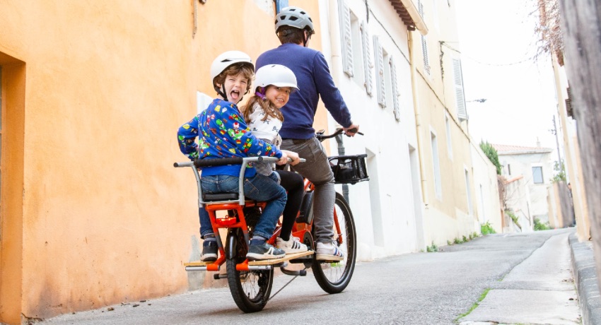
[[[342,133],[339,129],[334,134],[324,136],[317,133],[320,141],[333,138]],[[355,184],[368,180],[365,158],[367,155],[342,155],[329,157],[337,184]],[[219,257],[216,261],[194,261],[185,264],[186,271],[221,270],[226,264],[226,273],[214,274],[215,279],[227,278],[232,297],[243,312],[259,312],[272,297],[274,268],[279,267],[282,273],[289,276],[305,276],[306,268],[313,269],[313,276],[320,287],[327,293],[340,293],[351,280],[356,261],[356,231],[349,203],[342,194],[336,193],[334,203],[334,240],[344,252],[342,261],[321,261],[315,259],[315,242],[313,241],[313,191],[314,185],[305,179],[305,196],[301,203],[301,211],[293,226],[292,236],[298,237],[307,245],[308,252],[286,254],[280,259],[248,261],[246,253],[252,230],[261,215],[264,202],[245,200],[243,175],[246,162],[276,161],[277,158],[218,158],[211,160],[194,160],[194,162],[175,162],[175,167],[192,167],[197,180],[199,207],[206,208],[211,225],[217,239]],[[332,162],[336,162],[333,164]],[[302,162],[301,162],[302,163]],[[238,193],[203,194],[200,185],[198,168],[212,165],[242,165],[240,168],[240,186]],[[226,240],[222,241],[219,229],[226,229]],[[281,222],[268,240],[275,245],[281,232]],[[286,268],[288,264],[303,264],[302,270],[293,271]],[[285,285],[284,285],[285,286]]]

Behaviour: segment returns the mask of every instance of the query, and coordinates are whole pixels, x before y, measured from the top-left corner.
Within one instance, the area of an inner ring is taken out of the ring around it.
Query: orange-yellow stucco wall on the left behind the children
[[[198,3],[193,37],[193,4],[3,1],[2,89],[13,99],[2,105],[16,124],[1,158],[14,173],[1,191],[0,322],[187,289],[197,194],[192,172],[172,167],[185,160],[177,127],[197,90],[214,95],[217,54],[255,59],[279,45],[252,0]],[[317,1],[302,6],[319,26]]]

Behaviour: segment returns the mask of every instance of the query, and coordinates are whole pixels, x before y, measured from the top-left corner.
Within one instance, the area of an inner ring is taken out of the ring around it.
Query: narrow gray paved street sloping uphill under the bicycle
[[[439,252],[363,261],[338,295],[324,293],[309,273],[255,314],[240,312],[225,287],[36,324],[580,324],[568,246],[573,231],[487,235]],[[273,293],[291,279],[278,276]]]

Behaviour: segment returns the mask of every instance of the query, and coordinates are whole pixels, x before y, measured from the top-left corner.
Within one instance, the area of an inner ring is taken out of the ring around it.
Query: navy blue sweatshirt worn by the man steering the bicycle
[[[282,107],[284,124],[282,138],[312,138],[313,119],[321,99],[332,117],[344,127],[351,126],[351,113],[334,85],[325,57],[319,51],[297,44],[283,44],[264,52],[257,59],[256,69],[268,64],[287,66],[296,75],[299,91],[291,93]]]

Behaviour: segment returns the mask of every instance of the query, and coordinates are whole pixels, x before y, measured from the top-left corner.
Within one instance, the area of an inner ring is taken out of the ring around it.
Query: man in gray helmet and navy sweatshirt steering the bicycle
[[[281,45],[261,54],[256,66],[259,69],[267,64],[281,64],[296,75],[300,90],[291,93],[290,100],[282,109],[281,148],[306,159],[304,164],[293,166],[293,169],[315,184],[313,225],[316,258],[342,260],[344,254],[334,242],[334,174],[329,167],[327,153],[315,138],[313,129],[320,97],[347,136],[354,136],[359,126],[351,120],[351,113],[334,85],[325,57],[321,52],[308,48],[311,35],[315,34],[309,14],[294,6],[283,8],[276,16],[275,30]]]

